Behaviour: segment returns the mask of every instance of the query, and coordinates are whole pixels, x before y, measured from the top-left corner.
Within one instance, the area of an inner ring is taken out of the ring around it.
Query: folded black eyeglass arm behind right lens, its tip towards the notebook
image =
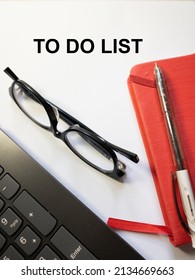
[[[89,127],[87,127],[86,125],[84,125],[82,122],[80,122],[79,120],[75,119],[74,117],[72,117],[71,115],[69,115],[67,112],[65,112],[64,110],[60,109],[59,107],[57,107],[56,105],[52,104],[51,105],[55,106],[60,114],[60,117],[69,125],[74,125],[74,124],[78,124],[80,127],[94,133],[96,136],[100,137],[101,139],[103,139],[101,136],[99,136],[97,133],[95,133],[93,130],[91,130]],[[138,163],[139,162],[139,157],[137,154],[127,151],[121,147],[118,147],[110,142],[108,142],[107,140],[103,139],[103,141],[109,145],[113,150],[115,150],[116,152],[118,152],[119,154],[125,156],[126,158],[130,159],[131,161]]]

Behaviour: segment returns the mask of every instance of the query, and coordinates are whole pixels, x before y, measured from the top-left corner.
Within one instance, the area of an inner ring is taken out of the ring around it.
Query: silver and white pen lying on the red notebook
[[[169,101],[168,90],[160,67],[155,63],[154,74],[156,87],[167,127],[172,156],[176,166],[176,178],[181,195],[182,206],[187,219],[192,247],[195,248],[195,200],[188,170],[184,167],[179,136],[174,122],[173,112]]]

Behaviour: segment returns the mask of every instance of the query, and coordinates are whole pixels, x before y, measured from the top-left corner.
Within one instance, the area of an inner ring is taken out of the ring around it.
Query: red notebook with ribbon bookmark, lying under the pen
[[[165,221],[162,232],[158,226],[156,232],[168,234],[172,244],[178,246],[190,242],[190,237],[180,223],[174,203],[171,173],[175,167],[155,85],[155,62],[162,69],[167,83],[185,163],[195,193],[195,54],[136,65],[128,78],[130,96]],[[155,225],[112,218],[108,224],[115,228],[136,230],[138,227],[137,231],[155,232]]]

